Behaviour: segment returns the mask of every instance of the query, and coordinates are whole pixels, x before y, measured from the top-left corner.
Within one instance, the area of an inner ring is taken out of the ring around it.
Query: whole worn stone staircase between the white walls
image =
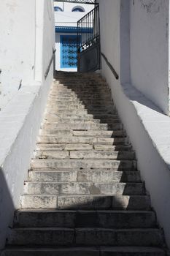
[[[107,83],[58,72],[6,256],[165,256]]]

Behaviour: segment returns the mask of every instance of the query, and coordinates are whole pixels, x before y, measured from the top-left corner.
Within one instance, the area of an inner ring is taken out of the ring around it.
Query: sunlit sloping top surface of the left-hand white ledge
[[[20,129],[33,107],[34,100],[39,95],[41,86],[23,86],[18,94],[0,112],[0,166],[10,154]]]

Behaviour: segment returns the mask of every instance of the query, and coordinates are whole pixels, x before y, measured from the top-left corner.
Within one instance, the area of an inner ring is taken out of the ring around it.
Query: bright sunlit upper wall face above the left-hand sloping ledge
[[[35,2],[0,2],[0,108],[17,93],[21,80],[34,80]]]

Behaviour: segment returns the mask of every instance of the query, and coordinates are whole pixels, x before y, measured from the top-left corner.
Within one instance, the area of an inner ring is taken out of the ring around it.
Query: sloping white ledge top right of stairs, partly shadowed
[[[134,105],[152,144],[170,170],[170,118],[131,84],[122,85],[125,96]]]

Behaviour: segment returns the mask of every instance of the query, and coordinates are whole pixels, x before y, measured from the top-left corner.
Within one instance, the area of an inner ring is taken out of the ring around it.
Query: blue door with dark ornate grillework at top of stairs
[[[61,68],[77,68],[77,36],[61,36]]]

